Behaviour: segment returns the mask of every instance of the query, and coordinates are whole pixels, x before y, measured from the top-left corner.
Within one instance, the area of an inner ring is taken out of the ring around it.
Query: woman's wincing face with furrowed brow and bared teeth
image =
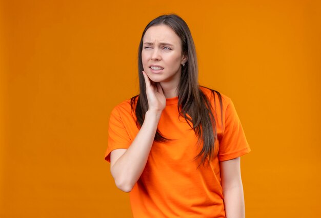
[[[169,26],[155,25],[145,32],[142,61],[144,71],[152,81],[177,86],[182,71],[180,64],[186,59],[179,36]]]

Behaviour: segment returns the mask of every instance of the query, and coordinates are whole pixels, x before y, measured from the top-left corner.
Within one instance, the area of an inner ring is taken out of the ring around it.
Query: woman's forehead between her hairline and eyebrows
[[[179,36],[167,25],[155,25],[145,32],[143,42],[168,42],[180,44]]]

